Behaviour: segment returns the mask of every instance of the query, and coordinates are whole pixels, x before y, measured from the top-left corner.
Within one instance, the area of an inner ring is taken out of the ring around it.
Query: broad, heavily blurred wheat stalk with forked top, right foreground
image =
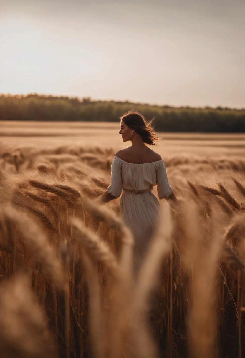
[[[215,281],[217,276],[217,262],[222,242],[221,228],[216,217],[213,216],[210,245],[208,249],[202,240],[202,218],[199,217],[197,207],[190,203],[188,210],[182,206],[185,235],[185,250],[190,257],[186,264],[191,272],[192,305],[189,314],[189,355],[190,357],[215,357]],[[185,257],[184,257],[185,259]]]

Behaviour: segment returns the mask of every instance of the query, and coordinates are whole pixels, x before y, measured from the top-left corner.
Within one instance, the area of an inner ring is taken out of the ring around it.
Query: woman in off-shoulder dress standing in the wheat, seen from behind
[[[120,197],[120,216],[135,238],[134,269],[138,271],[152,236],[155,219],[159,215],[159,202],[152,189],[157,185],[159,199],[176,197],[168,183],[166,168],[161,156],[148,148],[159,140],[143,115],[129,111],[120,117],[119,134],[122,141],[131,141],[129,148],[116,152],[111,165],[111,185],[102,194],[102,203]]]

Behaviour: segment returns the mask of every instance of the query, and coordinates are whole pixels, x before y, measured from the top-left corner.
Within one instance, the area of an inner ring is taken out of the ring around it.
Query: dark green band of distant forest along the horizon
[[[136,109],[163,132],[245,132],[245,108],[192,108],[93,101],[90,97],[0,95],[0,120],[115,122]]]

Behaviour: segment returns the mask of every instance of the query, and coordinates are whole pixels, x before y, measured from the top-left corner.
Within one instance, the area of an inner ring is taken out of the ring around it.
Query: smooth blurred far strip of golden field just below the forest
[[[116,150],[128,146],[118,134],[119,122],[25,122],[0,121],[0,141],[16,146],[61,146],[80,145],[110,147]],[[245,134],[208,133],[160,133],[164,138],[156,147],[161,155],[197,154],[243,155]]]

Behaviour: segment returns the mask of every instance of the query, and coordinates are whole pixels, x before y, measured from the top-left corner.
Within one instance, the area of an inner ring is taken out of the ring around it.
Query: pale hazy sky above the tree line
[[[0,93],[245,107],[244,0],[0,0]]]

